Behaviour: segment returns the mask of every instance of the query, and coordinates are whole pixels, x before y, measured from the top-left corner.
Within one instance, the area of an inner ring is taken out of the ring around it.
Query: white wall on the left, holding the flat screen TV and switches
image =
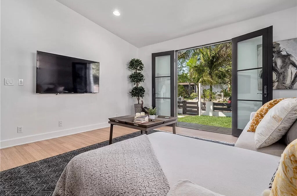
[[[99,61],[99,94],[36,94],[36,50]],[[55,0],[1,0],[1,147],[106,127],[116,113],[131,114],[131,58],[138,48]]]

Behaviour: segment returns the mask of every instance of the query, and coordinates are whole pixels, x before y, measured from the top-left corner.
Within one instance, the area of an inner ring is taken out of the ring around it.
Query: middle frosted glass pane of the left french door
[[[156,78],[156,97],[170,98],[170,77]]]

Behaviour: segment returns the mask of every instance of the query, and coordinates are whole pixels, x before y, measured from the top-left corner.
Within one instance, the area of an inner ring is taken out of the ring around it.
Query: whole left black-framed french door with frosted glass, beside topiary
[[[157,115],[175,116],[175,51],[152,53],[152,107]]]

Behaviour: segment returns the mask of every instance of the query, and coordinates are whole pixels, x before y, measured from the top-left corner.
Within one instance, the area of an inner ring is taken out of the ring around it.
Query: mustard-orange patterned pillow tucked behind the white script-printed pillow
[[[275,105],[277,105],[278,102],[283,100],[285,98],[280,98],[280,99],[273,99],[264,105],[262,105],[259,110],[257,110],[255,116],[252,118],[252,122],[249,125],[249,129],[247,129],[248,132],[255,132],[258,124],[261,122],[263,117],[267,114],[267,112]]]

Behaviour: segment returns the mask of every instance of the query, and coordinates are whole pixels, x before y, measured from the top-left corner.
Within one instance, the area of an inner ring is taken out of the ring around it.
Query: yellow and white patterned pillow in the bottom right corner
[[[269,196],[297,195],[297,139],[284,150]]]

